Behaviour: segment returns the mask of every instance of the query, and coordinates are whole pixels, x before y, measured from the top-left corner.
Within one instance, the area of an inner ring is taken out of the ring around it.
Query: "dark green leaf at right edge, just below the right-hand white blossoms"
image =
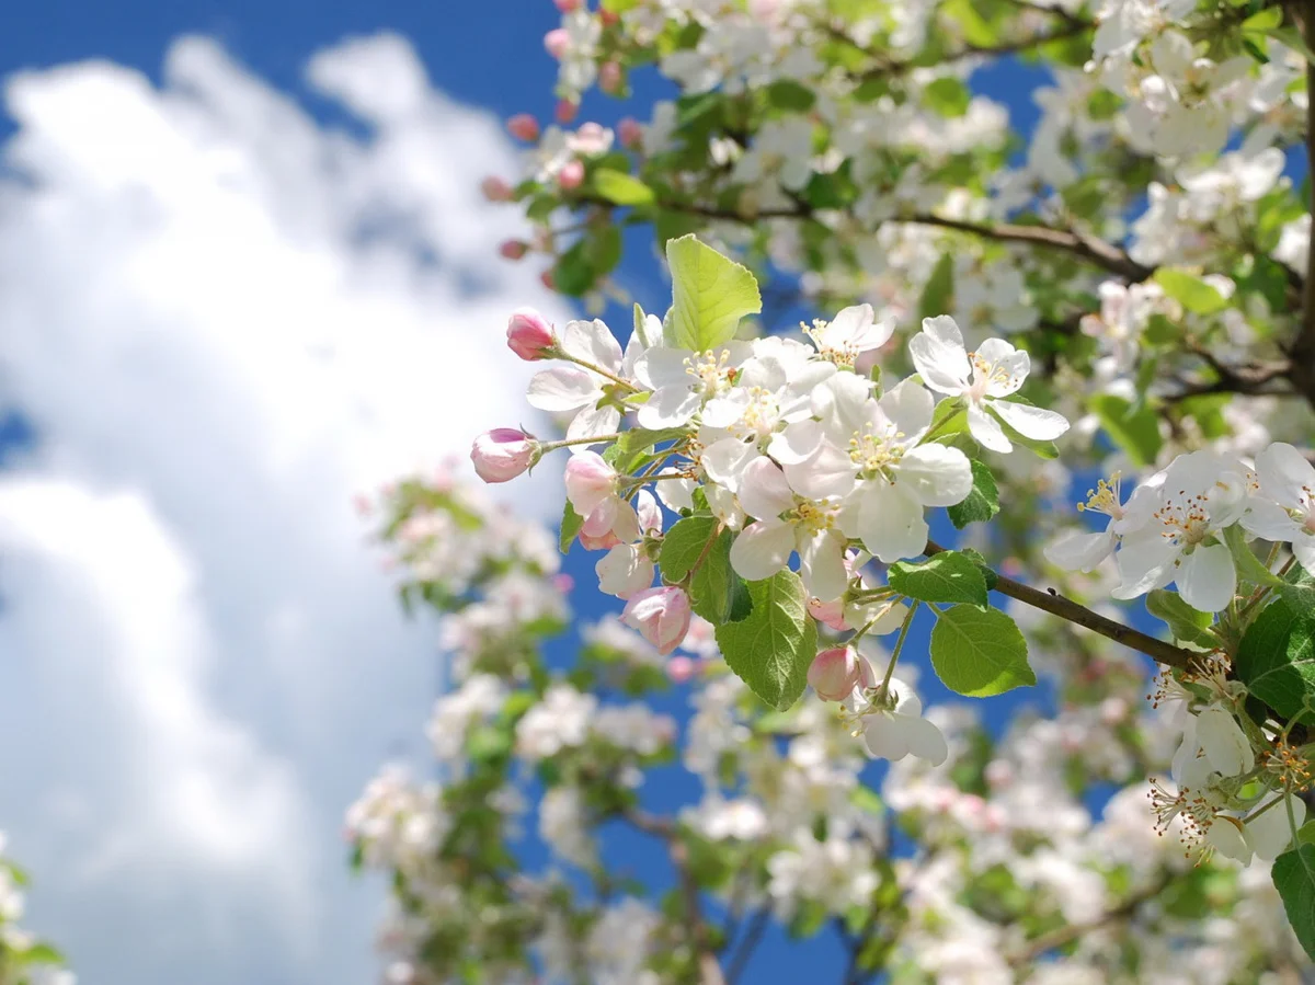
[[[1266,605],[1237,646],[1236,668],[1247,689],[1278,714],[1302,715],[1315,701],[1315,610],[1282,598]]]

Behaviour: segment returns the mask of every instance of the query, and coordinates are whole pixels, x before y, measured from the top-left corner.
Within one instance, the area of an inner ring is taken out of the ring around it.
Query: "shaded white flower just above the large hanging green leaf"
[[[831,601],[844,594],[844,535],[835,529],[838,502],[796,496],[771,460],[755,459],[738,491],[744,512],[755,517],[731,544],[731,567],[748,580],[772,577],[800,554],[800,577],[809,594]]]

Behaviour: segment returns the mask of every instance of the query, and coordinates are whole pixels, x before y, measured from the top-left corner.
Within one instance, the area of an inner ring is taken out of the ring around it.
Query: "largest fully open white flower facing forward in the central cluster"
[[[793,489],[814,500],[843,500],[842,530],[881,560],[922,554],[924,508],[952,506],[973,488],[964,452],[918,444],[931,425],[931,395],[906,380],[873,400],[872,384],[847,372],[818,387],[813,405],[822,421],[809,433],[821,441],[813,438],[815,451],[807,459],[785,467]],[[802,430],[786,429],[782,441],[798,444]]]

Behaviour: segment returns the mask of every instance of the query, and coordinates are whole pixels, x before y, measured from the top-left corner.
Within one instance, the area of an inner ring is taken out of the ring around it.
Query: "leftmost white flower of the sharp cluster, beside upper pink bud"
[[[621,372],[621,343],[598,318],[568,322],[562,331],[562,350],[613,376]],[[598,406],[606,396],[605,384],[605,376],[581,366],[554,366],[534,375],[526,398],[530,406],[548,413],[573,412],[567,427],[568,439],[614,434],[621,423],[621,412],[611,405]],[[571,448],[572,452],[584,450],[583,444]]]

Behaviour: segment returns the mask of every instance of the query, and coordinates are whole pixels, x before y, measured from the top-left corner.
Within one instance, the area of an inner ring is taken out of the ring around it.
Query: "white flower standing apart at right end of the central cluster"
[[[1014,450],[992,413],[1032,441],[1055,441],[1069,427],[1053,410],[1003,400],[1019,391],[1031,368],[1027,352],[1003,339],[989,338],[969,354],[955,320],[942,314],[922,320],[922,331],[910,339],[909,352],[923,383],[968,401],[968,430],[992,451]]]

